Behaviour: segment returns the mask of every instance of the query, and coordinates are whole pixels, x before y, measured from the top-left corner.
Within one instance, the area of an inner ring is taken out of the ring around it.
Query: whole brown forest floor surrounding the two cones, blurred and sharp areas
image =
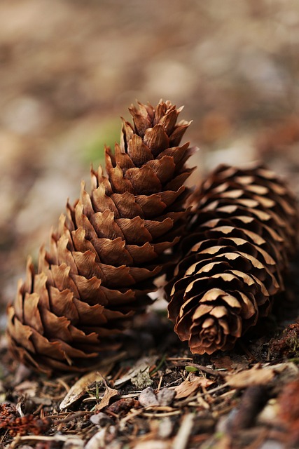
[[[0,4],[0,448],[298,448],[298,262],[278,311],[213,356],[190,354],[153,309],[118,357],[48,379],[11,359],[4,332],[27,253],[118,140],[116,118],[135,98],[186,105],[195,181],[217,163],[260,159],[299,198],[298,5],[50,3],[51,13],[47,0]]]

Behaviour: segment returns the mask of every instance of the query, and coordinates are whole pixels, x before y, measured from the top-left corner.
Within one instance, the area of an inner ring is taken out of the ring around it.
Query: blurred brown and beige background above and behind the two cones
[[[1,0],[0,18],[1,328],[136,99],[185,105],[192,182],[262,159],[299,193],[298,1]]]

